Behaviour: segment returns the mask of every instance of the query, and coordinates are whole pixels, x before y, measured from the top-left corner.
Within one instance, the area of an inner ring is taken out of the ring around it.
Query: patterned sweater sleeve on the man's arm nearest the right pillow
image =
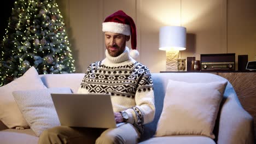
[[[152,122],[155,116],[153,80],[149,70],[138,79],[138,87],[135,94],[136,106],[125,110],[129,115],[128,122],[141,126]]]

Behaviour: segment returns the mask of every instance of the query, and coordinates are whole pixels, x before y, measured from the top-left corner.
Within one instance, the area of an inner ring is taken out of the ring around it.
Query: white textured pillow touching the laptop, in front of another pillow
[[[72,93],[70,88],[14,91],[13,97],[31,129],[39,136],[45,129],[60,125],[50,93]]]

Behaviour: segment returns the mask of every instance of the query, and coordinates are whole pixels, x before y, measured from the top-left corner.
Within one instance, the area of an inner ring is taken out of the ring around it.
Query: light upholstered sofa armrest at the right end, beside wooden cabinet
[[[220,110],[217,143],[254,143],[253,117],[243,109],[230,83]]]

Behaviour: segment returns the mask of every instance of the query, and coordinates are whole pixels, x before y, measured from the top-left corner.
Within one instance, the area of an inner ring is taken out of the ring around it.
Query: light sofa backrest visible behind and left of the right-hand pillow
[[[168,80],[183,81],[188,83],[207,83],[226,81],[223,77],[210,73],[152,73],[155,94],[155,118],[153,122],[145,125],[141,141],[155,135],[158,120],[162,112],[164,97]]]

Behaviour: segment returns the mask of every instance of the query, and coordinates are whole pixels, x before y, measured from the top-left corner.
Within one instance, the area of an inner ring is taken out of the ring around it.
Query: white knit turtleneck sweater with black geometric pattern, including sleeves
[[[129,56],[129,48],[118,57],[106,50],[103,61],[89,65],[78,93],[111,95],[114,112],[126,111],[127,122],[143,133],[143,124],[155,115],[153,81],[146,66]]]

